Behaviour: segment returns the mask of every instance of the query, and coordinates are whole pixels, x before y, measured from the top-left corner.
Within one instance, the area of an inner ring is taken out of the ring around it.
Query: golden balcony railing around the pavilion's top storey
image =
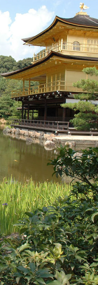
[[[57,53],[64,53],[64,51],[72,51],[73,53],[98,53],[98,45],[97,44],[89,44],[87,43],[86,45],[84,43],[79,43],[75,41],[74,43],[70,43],[67,41],[60,40],[54,44],[52,44],[52,47],[44,49],[40,51],[37,54],[33,55],[33,62],[36,60],[40,60],[43,57],[46,57],[50,51],[55,51]]]

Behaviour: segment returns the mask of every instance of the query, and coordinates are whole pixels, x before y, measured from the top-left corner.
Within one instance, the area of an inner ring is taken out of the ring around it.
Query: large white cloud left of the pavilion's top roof
[[[39,47],[23,45],[22,38],[32,37],[40,33],[51,21],[54,12],[42,6],[38,11],[30,9],[28,13],[17,13],[15,21],[11,23],[9,12],[0,11],[0,54],[11,55],[17,61],[25,57],[32,57],[39,51]]]

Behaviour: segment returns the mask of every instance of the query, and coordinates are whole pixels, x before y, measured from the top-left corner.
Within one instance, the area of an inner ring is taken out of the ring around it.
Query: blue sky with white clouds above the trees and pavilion
[[[74,17],[80,11],[80,0],[0,0],[0,55],[11,55],[16,61],[33,57],[42,47],[23,45],[22,38],[32,37],[46,29],[55,16]],[[86,0],[87,14],[98,18],[98,0]]]

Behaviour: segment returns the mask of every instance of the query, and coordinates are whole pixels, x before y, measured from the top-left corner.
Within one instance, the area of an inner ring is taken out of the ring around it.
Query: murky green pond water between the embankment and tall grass
[[[54,158],[57,150],[47,150],[43,141],[34,140],[32,144],[26,144],[23,138],[5,136],[0,125],[0,181],[6,176],[12,180],[26,181],[32,177],[33,181],[59,181],[53,176],[53,167],[47,166],[49,159]],[[79,149],[80,146],[77,146]],[[83,146],[82,146],[83,148]],[[63,179],[65,180],[65,179]],[[66,182],[69,182],[68,178]]]

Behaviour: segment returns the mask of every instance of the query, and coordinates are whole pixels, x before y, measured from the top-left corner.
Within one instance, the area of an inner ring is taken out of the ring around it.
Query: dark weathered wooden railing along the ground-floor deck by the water
[[[39,121],[39,120],[21,120],[12,119],[12,127],[24,127],[28,129],[38,129],[46,131],[55,131],[55,133],[68,133],[69,122],[56,122],[56,121]]]

